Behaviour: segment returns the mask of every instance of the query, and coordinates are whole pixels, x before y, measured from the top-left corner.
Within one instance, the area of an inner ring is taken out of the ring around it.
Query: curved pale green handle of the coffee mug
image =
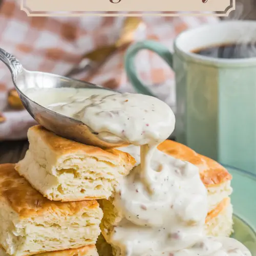
[[[156,97],[138,78],[136,74],[134,59],[137,53],[143,49],[150,50],[158,54],[162,59],[165,60],[165,62],[169,65],[171,69],[173,69],[173,54],[170,53],[167,47],[161,45],[159,42],[145,40],[141,42],[136,42],[134,45],[129,47],[124,56],[125,71],[134,89],[138,93]]]

